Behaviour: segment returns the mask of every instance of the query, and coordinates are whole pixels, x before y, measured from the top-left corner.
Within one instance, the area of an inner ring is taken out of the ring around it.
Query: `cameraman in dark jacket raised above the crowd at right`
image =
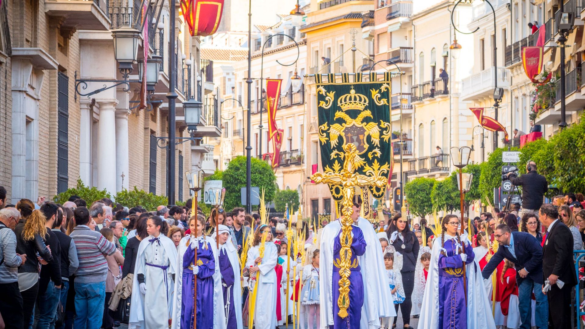
[[[508,173],[508,179],[515,186],[522,186],[522,213],[536,213],[542,205],[542,198],[548,191],[548,183],[541,174],[536,173],[536,163],[529,161],[526,164],[526,173],[518,177],[515,173]]]

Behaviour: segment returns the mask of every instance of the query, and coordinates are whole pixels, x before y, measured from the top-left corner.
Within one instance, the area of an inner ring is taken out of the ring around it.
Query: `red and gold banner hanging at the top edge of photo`
[[[223,0],[181,0],[181,12],[191,36],[209,36],[221,22]]]

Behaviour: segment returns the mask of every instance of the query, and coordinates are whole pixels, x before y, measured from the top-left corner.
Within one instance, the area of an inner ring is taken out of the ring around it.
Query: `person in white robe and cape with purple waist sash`
[[[177,273],[177,249],[170,238],[161,234],[164,225],[167,223],[158,216],[149,218],[149,236],[142,239],[138,246],[129,329],[167,328],[173,318],[173,275]]]

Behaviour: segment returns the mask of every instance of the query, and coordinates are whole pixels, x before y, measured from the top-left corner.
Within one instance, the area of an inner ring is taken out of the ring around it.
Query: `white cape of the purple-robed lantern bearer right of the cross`
[[[455,237],[445,234],[445,241],[453,238]],[[429,266],[425,293],[422,298],[421,316],[418,320],[419,329],[439,328],[439,255],[441,253],[441,237],[435,239],[431,251],[431,266]],[[466,265],[466,275],[467,329],[495,328],[477,257],[473,260],[473,263]]]

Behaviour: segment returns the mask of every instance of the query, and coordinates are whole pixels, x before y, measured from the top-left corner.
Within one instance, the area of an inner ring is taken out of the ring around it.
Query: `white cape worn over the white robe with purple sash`
[[[138,245],[138,253],[136,255],[136,266],[135,266],[135,273],[144,273],[144,266],[146,266],[146,259],[144,259],[144,249],[146,246],[150,244],[148,241],[152,238],[152,235],[149,237],[142,239],[140,244]],[[164,252],[167,253],[168,256],[168,263],[169,268],[167,269],[167,273],[177,273],[177,264],[175,263],[175,259],[177,257],[177,248],[175,248],[175,244],[173,240],[164,236],[164,234],[159,235],[160,244],[164,248]],[[176,277],[176,276],[175,276]],[[175,286],[177,289],[177,286]],[[172,297],[172,296],[171,296]],[[168,301],[168,306],[173,305],[173,300]],[[179,308],[180,309],[180,308]],[[170,311],[172,312],[173,309]],[[179,310],[180,311],[180,310]],[[144,300],[142,293],[140,293],[139,283],[138,283],[138,275],[133,277],[132,282],[132,297],[130,297],[130,316],[128,320],[128,328],[129,329],[137,329],[137,328],[144,328]]]

